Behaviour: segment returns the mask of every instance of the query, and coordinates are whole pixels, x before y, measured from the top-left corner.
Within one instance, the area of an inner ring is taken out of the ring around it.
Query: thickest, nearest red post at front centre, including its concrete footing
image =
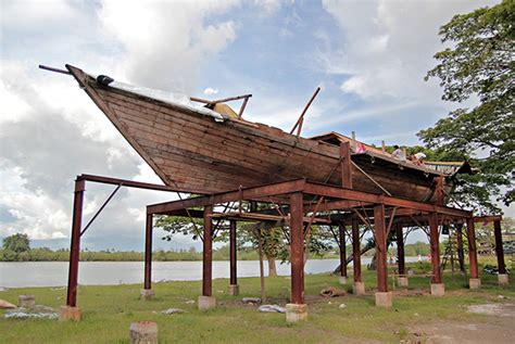
[[[304,233],[303,195],[290,195],[290,262],[291,262],[291,303],[286,305],[286,321],[297,322],[307,318],[304,304]]]

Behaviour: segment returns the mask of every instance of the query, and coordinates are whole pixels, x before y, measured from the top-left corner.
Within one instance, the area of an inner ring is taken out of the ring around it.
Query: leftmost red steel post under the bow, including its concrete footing
[[[80,254],[80,227],[83,226],[83,203],[86,181],[84,179],[75,180],[73,219],[72,219],[72,240],[70,247],[70,269],[68,288],[66,294],[66,306],[61,307],[59,319],[80,320],[81,311],[77,307],[77,285],[78,285],[78,260]]]

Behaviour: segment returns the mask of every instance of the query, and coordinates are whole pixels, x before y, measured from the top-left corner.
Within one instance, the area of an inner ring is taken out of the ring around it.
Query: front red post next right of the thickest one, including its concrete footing
[[[388,292],[387,238],[384,204],[377,204],[374,206],[374,224],[377,255],[376,306],[391,307],[392,294],[391,292]]]

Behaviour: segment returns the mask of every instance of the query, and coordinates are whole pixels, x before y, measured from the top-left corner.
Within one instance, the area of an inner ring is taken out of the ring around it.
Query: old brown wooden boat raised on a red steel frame
[[[449,177],[336,132],[297,137],[169,101],[161,93],[149,95],[117,82],[108,86],[79,68],[66,68],[163,182],[177,191],[209,194],[298,178],[341,186],[339,144],[346,141],[354,148],[351,160],[356,190],[386,190],[398,198],[434,201],[435,177]],[[447,178],[445,189],[452,184],[452,178]]]

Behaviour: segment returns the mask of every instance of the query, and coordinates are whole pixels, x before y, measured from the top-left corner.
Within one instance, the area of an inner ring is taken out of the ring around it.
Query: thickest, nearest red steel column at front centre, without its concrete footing
[[[304,304],[304,233],[302,192],[290,195],[291,303]]]

